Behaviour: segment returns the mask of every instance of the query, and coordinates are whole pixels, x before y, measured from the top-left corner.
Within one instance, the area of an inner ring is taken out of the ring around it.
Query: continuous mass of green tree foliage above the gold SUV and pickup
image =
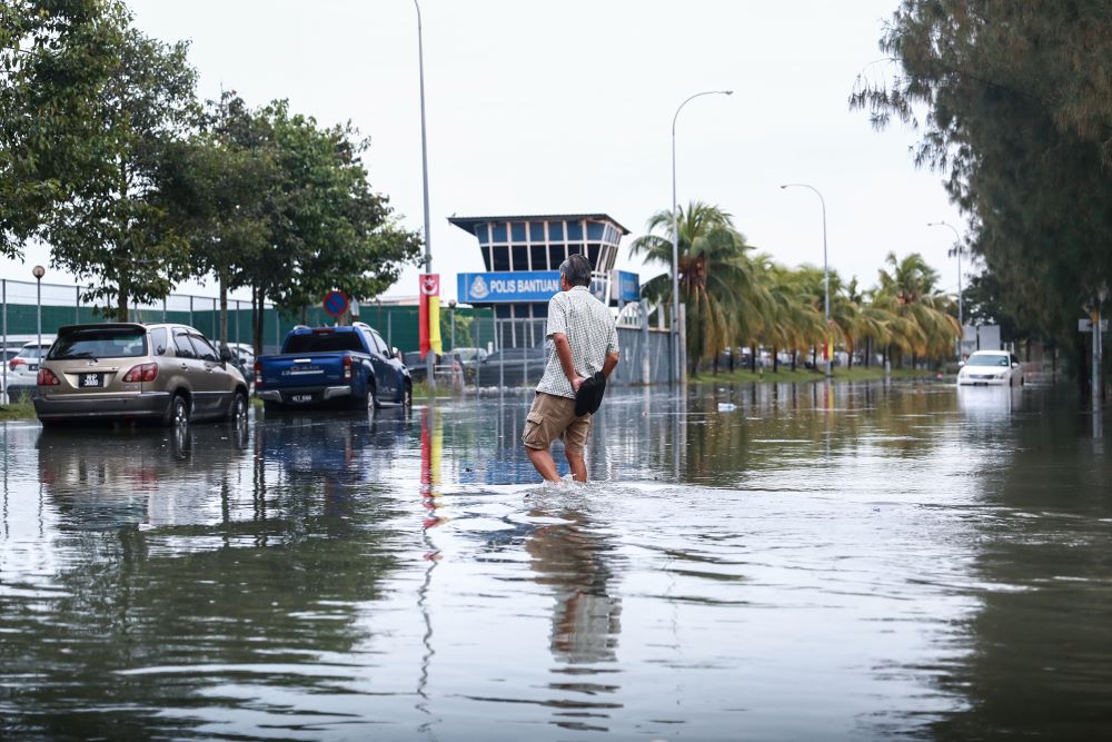
[[[202,110],[186,52],[119,0],[0,7],[0,255],[48,243],[121,319],[187,277],[287,314],[394,284],[420,243],[370,188],[368,140],[285,101]]]

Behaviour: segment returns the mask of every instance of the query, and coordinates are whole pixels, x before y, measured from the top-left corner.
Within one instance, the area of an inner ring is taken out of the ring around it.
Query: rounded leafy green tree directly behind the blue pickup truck
[[[419,255],[419,237],[367,182],[367,141],[356,137],[291,115],[286,101],[252,110],[228,92],[177,150],[176,201],[195,271],[217,277],[221,307],[228,289],[251,289],[257,350],[265,300],[296,316],[331,289],[375,296]],[[226,320],[221,328],[224,340]]]

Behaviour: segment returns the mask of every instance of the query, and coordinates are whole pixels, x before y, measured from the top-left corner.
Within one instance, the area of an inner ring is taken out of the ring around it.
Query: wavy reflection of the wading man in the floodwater
[[[599,700],[599,695],[616,692],[617,685],[590,682],[593,675],[617,672],[616,667],[598,666],[616,662],[622,630],[622,601],[610,594],[615,546],[606,535],[592,530],[580,509],[567,504],[538,507],[530,515],[559,521],[538,527],[525,542],[537,583],[552,586],[556,596],[550,649],[559,664],[553,672],[568,675],[568,681],[554,682],[550,687],[573,694],[553,702],[559,709],[554,723],[604,730],[584,720],[597,722],[607,716],[604,710],[620,708],[614,701]]]

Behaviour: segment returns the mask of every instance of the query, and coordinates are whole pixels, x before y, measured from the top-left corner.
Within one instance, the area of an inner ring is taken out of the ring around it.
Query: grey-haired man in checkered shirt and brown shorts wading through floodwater
[[[559,482],[548,447],[564,442],[564,454],[576,482],[587,481],[583,448],[590,432],[590,413],[575,414],[579,386],[602,372],[609,377],[618,365],[618,330],[606,305],[590,289],[590,261],[583,255],[568,257],[559,267],[560,293],[548,303],[548,330],[555,353],[548,356],[545,375],[526,417],[522,442],[529,461],[548,482]]]

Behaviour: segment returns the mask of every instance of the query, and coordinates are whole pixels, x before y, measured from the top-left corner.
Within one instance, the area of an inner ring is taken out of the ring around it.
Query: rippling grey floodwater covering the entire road
[[[0,426],[0,738],[1112,738],[1069,390],[614,392],[565,487],[526,412]]]

